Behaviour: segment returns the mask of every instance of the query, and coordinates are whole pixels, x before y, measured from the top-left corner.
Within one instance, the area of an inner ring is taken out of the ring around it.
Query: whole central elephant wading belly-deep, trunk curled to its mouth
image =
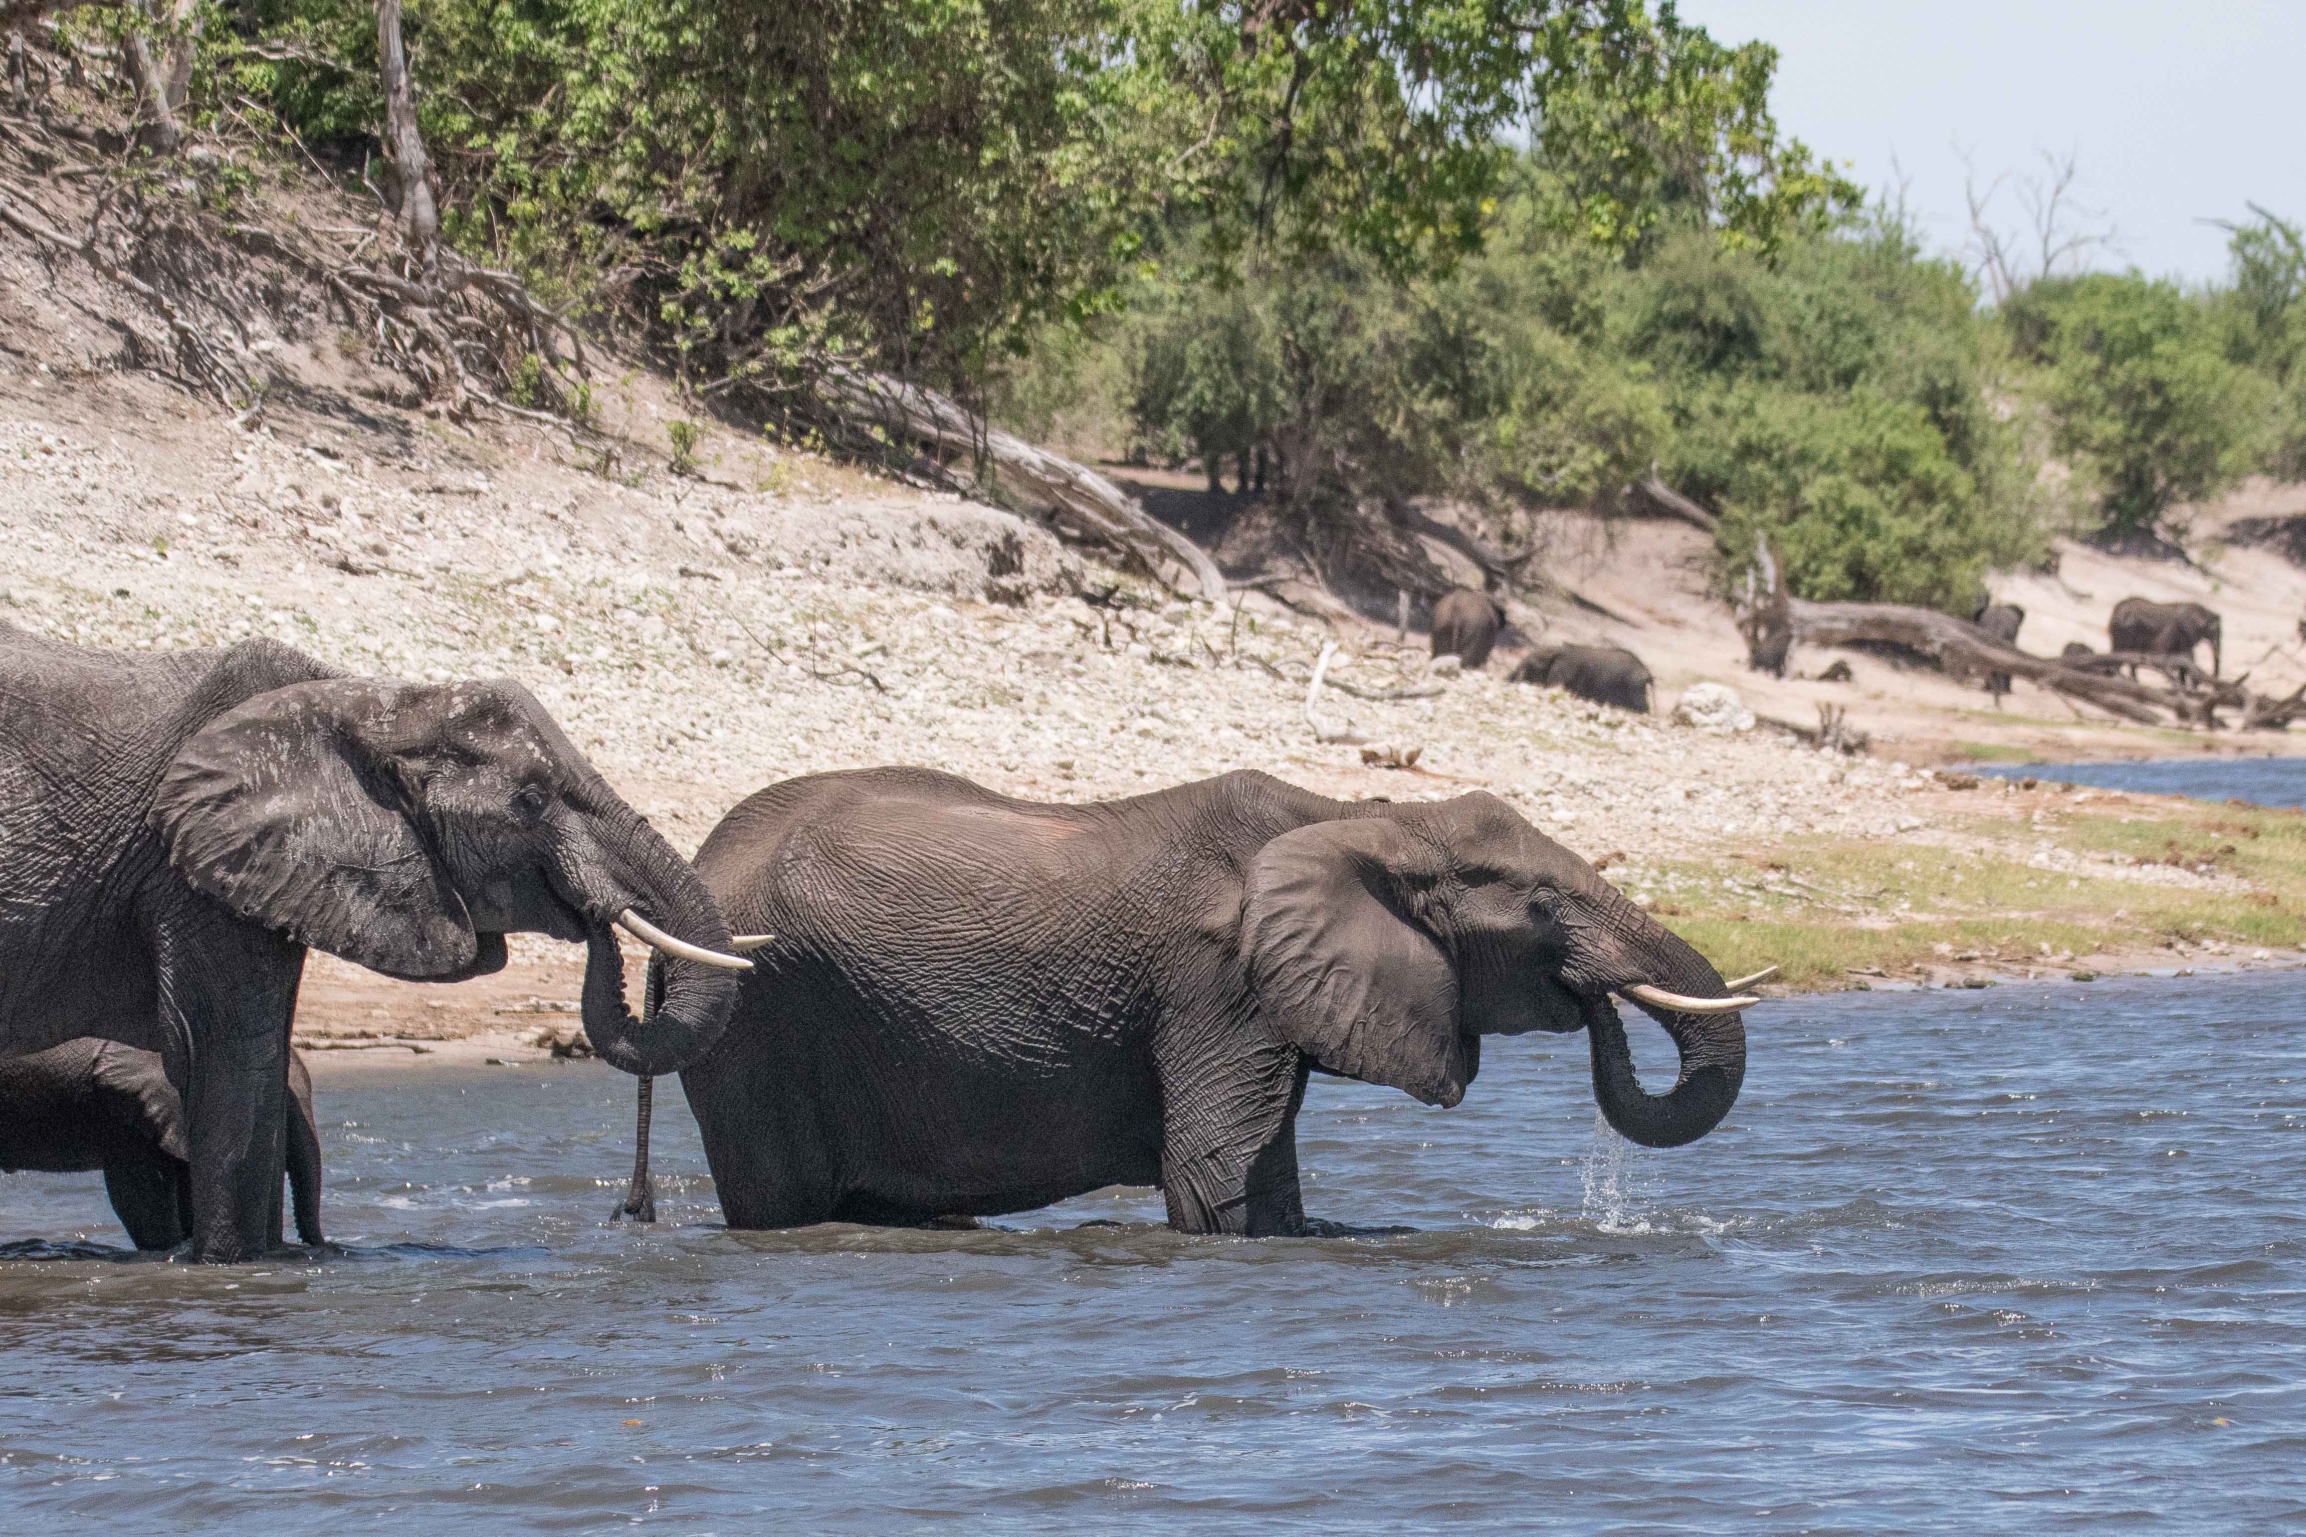
[[[779,936],[680,1076],[736,1228],[1160,1184],[1178,1231],[1298,1233],[1312,1069],[1453,1106],[1485,1035],[1587,1030],[1603,1113],[1653,1148],[1746,1074],[1739,1014],[1658,1014],[1681,1078],[1642,1092],[1610,991],[1720,975],[1490,795],[1238,772],[1056,807],[860,770],[756,793],[696,869]]]

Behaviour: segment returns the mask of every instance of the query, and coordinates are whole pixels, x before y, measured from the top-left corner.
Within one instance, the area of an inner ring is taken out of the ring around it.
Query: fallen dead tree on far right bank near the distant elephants
[[[1785,677],[1794,645],[1849,645],[1886,641],[1935,657],[1949,671],[2009,673],[2041,684],[2059,696],[2096,705],[2108,714],[2142,726],[2177,721],[2218,728],[2221,710],[2239,710],[2244,728],[2281,730],[2306,714],[2306,689],[2285,701],[2244,689],[2241,677],[2211,680],[2195,668],[2165,666],[2165,657],[2140,657],[2172,675],[2172,687],[2151,687],[2094,668],[2068,666],[2062,659],[2011,650],[1967,620],[1914,608],[1909,604],[1813,604],[1794,597],[1785,574],[1769,553],[1769,542],[1755,546],[1755,567],[1746,576],[1739,604],[1739,629],[1746,636],[1746,661],[1759,673]],[[2092,659],[2103,661],[2103,659]]]

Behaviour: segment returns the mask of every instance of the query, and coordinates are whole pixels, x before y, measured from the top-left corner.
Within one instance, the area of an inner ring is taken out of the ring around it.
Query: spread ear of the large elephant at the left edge
[[[219,714],[161,777],[152,827],[205,896],[387,977],[473,968],[480,940],[374,740],[413,689],[297,682]]]

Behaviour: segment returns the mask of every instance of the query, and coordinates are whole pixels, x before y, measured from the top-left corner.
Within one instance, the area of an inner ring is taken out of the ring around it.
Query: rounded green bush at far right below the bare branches
[[[2004,320],[2108,532],[2151,532],[2258,461],[2274,387],[2228,362],[2211,306],[2175,283],[2043,279],[2013,295]]]

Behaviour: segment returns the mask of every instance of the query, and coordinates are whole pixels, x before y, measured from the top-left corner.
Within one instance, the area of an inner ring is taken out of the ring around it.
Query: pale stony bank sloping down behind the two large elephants
[[[1819,841],[1983,839],[2062,876],[2248,887],[1979,832],[1988,807],[2034,830],[2041,804],[2078,797],[1693,728],[1672,691],[1630,717],[1508,684],[1499,661],[1434,677],[1418,636],[1331,629],[1257,595],[1169,599],[1028,518],[823,461],[731,445],[736,470],[696,477],[634,459],[602,472],[526,429],[235,426],[138,376],[0,378],[0,601],[88,645],[267,634],[348,671],[519,677],[683,848],[749,790],[837,767],[934,765],[1052,800],[1254,767],[1331,795],[1490,790],[1670,913],[1803,901],[1799,876],[1750,860]],[[1331,641],[1335,687],[1310,717]],[[1847,908],[1815,901],[1829,922]],[[1900,922],[1877,908],[1856,922]],[[316,963],[304,1032],[417,1055],[489,1030],[512,1051],[574,975],[549,942],[459,989]]]

